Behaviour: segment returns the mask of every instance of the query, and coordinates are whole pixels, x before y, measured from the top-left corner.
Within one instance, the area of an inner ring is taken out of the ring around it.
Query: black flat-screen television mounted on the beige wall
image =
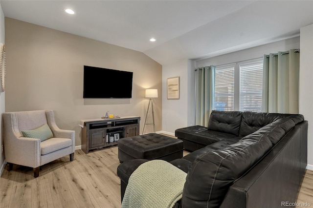
[[[84,66],[83,98],[132,98],[133,72]]]

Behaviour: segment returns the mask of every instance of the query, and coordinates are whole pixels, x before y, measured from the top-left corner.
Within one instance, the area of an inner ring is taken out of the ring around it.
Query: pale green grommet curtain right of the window
[[[299,113],[299,59],[296,49],[264,55],[264,112]]]

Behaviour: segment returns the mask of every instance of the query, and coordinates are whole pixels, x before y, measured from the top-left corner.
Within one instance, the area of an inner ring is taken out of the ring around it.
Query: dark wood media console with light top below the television
[[[123,137],[139,135],[139,122],[139,116],[81,120],[82,150],[87,154],[92,149],[117,145]]]

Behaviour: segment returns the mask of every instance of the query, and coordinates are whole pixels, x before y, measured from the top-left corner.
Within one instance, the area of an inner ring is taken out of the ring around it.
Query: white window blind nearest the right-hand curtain
[[[262,111],[263,60],[240,64],[240,111]]]

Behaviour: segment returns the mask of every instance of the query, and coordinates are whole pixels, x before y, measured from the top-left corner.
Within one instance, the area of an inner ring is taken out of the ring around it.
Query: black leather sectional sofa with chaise
[[[184,148],[193,151],[170,162],[187,173],[177,207],[275,208],[295,202],[307,166],[307,132],[299,114],[215,110],[208,127],[177,129]],[[122,197],[132,172],[146,161],[118,166]]]

